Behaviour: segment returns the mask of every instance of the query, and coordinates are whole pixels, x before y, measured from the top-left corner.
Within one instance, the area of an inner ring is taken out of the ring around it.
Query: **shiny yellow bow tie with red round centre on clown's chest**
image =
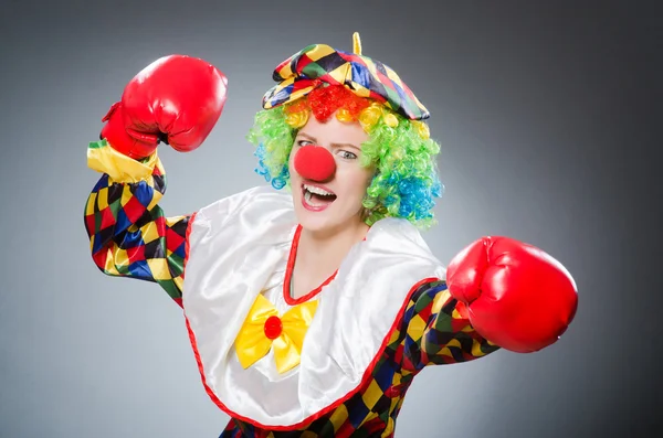
[[[274,348],[278,373],[297,366],[304,336],[316,309],[317,301],[306,301],[278,317],[274,305],[259,295],[235,339],[240,364],[248,368]]]

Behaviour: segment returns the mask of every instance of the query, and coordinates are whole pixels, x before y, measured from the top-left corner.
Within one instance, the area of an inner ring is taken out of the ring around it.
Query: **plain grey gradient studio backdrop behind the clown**
[[[273,67],[309,43],[351,50],[352,31],[432,113],[446,186],[424,234],[435,255],[509,235],[561,260],[580,290],[551,348],[424,370],[397,436],[663,428],[653,2],[222,3],[2,2],[1,437],[219,435],[228,417],[202,388],[179,308],[91,260],[85,149],[135,73],[186,53],[218,65],[230,94],[202,148],[161,149],[165,211],[261,184],[244,135]]]

